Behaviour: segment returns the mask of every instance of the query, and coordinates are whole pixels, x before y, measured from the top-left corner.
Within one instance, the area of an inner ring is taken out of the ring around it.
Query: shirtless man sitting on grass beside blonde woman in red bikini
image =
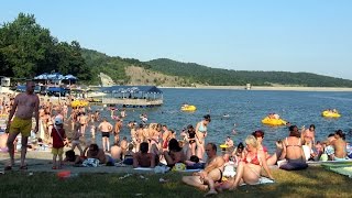
[[[208,155],[206,168],[195,173],[194,176],[184,176],[183,182],[202,190],[209,187],[209,191],[206,195],[218,194],[215,190],[215,183],[221,182],[224,161],[222,156],[217,156],[217,145],[213,143],[206,145],[206,153]]]

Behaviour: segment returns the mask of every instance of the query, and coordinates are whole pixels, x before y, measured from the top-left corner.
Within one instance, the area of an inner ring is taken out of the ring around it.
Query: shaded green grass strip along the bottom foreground
[[[184,185],[183,175],[80,174],[58,179],[55,173],[7,172],[0,175],[0,197],[202,197],[204,191]],[[275,169],[275,184],[243,186],[218,197],[350,197],[352,179],[321,167],[285,172]],[[160,183],[160,178],[168,179]]]

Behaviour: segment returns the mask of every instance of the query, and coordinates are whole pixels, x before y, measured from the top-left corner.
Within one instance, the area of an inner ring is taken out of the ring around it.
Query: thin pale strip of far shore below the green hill
[[[232,89],[245,90],[244,86],[197,86],[197,87],[158,87],[163,89]],[[277,91],[352,91],[345,87],[265,87],[252,86],[250,90],[277,90]]]

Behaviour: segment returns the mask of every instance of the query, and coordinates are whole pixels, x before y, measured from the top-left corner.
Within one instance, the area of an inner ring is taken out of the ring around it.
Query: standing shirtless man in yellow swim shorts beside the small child
[[[35,118],[35,128],[34,133],[38,130],[38,107],[40,99],[34,94],[35,84],[33,81],[26,82],[26,91],[18,95],[14,98],[14,103],[9,114],[7,132],[9,132],[9,138],[7,145],[9,147],[10,155],[10,164],[6,166],[6,170],[12,169],[14,165],[14,145],[13,142],[19,133],[21,133],[21,166],[20,169],[26,169],[26,165],[24,164],[25,154],[26,154],[26,145],[29,141],[29,136],[31,136],[32,130],[32,117],[34,113]],[[14,116],[15,112],[15,116]],[[14,116],[13,120],[12,117]],[[12,121],[11,121],[12,120]]]

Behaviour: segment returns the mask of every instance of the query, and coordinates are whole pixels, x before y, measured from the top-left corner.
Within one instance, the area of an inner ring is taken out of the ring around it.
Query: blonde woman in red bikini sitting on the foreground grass
[[[266,172],[268,178],[274,179],[271,170],[267,167],[265,154],[262,150],[258,150],[258,144],[255,138],[253,135],[248,136],[245,139],[245,144],[246,154],[239,163],[235,177],[217,186],[218,190],[233,190],[243,183],[248,185],[256,184],[261,177],[262,167]]]

